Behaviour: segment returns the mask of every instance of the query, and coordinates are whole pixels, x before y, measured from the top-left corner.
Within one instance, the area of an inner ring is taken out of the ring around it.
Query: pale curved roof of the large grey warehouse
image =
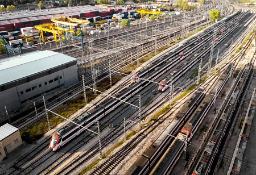
[[[57,66],[76,61],[71,56],[52,51],[31,52],[0,61],[0,86]]]

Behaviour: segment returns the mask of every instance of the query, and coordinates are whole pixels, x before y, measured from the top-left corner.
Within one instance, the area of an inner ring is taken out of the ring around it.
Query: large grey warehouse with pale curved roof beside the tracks
[[[32,52],[0,60],[0,111],[17,109],[28,100],[42,98],[75,84],[77,60],[52,51]]]

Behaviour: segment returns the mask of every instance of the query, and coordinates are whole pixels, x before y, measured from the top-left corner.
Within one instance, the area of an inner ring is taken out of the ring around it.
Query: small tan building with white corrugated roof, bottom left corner
[[[22,144],[19,129],[6,123],[0,127],[0,161]]]

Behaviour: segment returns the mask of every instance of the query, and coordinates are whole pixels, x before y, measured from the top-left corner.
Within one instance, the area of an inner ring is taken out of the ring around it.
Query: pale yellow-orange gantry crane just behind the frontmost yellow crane
[[[89,24],[89,20],[82,20],[77,18],[68,18],[68,16],[59,14],[60,17],[55,17],[55,15],[52,15],[53,18],[51,21],[53,23],[57,24],[57,27],[59,27],[59,24],[64,24],[70,27],[70,30],[72,30],[73,27],[78,26],[79,24],[82,24],[82,31],[84,31],[84,24]]]

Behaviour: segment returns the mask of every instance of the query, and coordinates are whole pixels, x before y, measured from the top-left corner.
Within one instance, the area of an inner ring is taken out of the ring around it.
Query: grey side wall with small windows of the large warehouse
[[[33,75],[35,76],[35,75]],[[32,77],[32,76],[31,76]],[[10,89],[0,91],[0,110],[7,111],[27,105],[26,100],[35,101],[42,98],[43,94],[50,94],[57,89],[62,89],[78,81],[76,64],[47,76],[38,77]],[[17,84],[15,82],[15,84]]]

